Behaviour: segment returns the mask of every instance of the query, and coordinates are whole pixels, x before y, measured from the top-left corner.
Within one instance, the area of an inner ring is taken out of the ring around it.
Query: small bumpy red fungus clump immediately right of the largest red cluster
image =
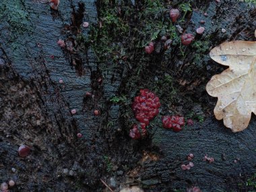
[[[172,129],[174,132],[181,131],[181,127],[185,125],[184,117],[179,116],[163,116],[162,126],[166,129]]]

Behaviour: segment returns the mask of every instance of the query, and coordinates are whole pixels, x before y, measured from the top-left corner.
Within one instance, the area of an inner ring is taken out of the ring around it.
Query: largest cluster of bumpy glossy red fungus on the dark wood
[[[146,134],[146,126],[150,124],[150,120],[158,114],[159,107],[159,98],[148,89],[141,89],[139,96],[134,98],[132,109],[135,113],[135,118],[140,122],[141,132],[143,134]],[[133,133],[139,132],[137,126],[136,129],[135,126],[133,126],[133,129],[130,130],[131,138],[134,138]]]

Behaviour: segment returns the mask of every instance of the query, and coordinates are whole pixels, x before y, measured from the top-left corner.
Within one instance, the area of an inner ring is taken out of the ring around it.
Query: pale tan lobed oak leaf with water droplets
[[[218,97],[216,119],[223,119],[233,132],[245,130],[251,113],[256,114],[256,42],[225,42],[213,48],[210,57],[229,66],[206,85],[207,93]]]

